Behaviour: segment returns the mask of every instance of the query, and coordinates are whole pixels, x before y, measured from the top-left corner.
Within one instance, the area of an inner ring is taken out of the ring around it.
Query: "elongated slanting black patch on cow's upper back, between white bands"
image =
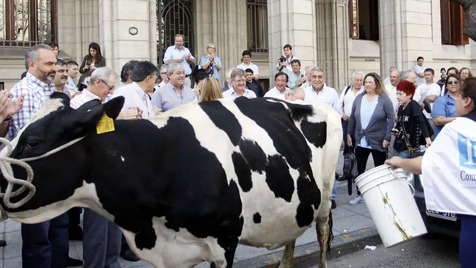
[[[233,145],[237,146],[241,137],[241,125],[235,115],[219,101],[200,102],[199,106],[210,117],[213,124],[230,137]]]

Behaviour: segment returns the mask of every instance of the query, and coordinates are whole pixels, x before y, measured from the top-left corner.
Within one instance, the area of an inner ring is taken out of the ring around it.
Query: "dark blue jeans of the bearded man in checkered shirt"
[[[23,268],[65,268],[68,263],[68,213],[41,223],[22,223]]]

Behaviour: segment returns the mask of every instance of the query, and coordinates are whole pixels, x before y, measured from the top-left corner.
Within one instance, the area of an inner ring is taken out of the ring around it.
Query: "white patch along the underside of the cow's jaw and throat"
[[[99,202],[96,186],[94,184],[88,184],[85,181],[83,181],[82,186],[77,188],[74,194],[66,200],[55,202],[35,210],[7,213],[7,215],[13,220],[32,224],[57,217],[74,207],[90,208],[107,219],[114,220],[114,216],[108,214]]]

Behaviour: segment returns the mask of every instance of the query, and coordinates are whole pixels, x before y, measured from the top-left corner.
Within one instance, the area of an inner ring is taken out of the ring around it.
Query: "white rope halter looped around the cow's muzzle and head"
[[[3,203],[5,204],[5,206],[10,208],[10,209],[19,208],[19,207],[25,205],[25,203],[28,202],[33,197],[33,195],[35,194],[36,188],[31,183],[31,181],[33,180],[33,169],[26,162],[31,162],[31,161],[35,161],[35,160],[39,160],[39,159],[43,159],[43,158],[46,158],[48,156],[51,156],[54,153],[57,153],[57,152],[65,149],[65,148],[68,148],[69,146],[79,142],[84,137],[85,136],[76,138],[76,139],[74,139],[74,140],[72,140],[68,143],[65,143],[65,144],[59,146],[56,149],[53,149],[53,150],[47,152],[46,154],[41,155],[41,156],[25,158],[25,159],[10,158],[10,155],[13,151],[12,145],[11,145],[11,143],[8,139],[0,137],[0,143],[5,144],[6,145],[6,150],[7,150],[6,151],[6,156],[0,156],[0,172],[3,175],[3,177],[5,178],[5,180],[8,182],[8,186],[5,190],[5,193],[0,193],[0,198],[3,198]],[[17,179],[13,176],[12,164],[21,166],[25,169],[25,171],[26,171],[26,180]],[[15,184],[21,185],[22,187],[13,191],[13,186]],[[11,197],[18,196],[26,190],[29,190],[26,197],[22,198],[18,202],[14,202],[14,203],[12,203],[10,201]],[[8,217],[7,217],[5,211],[3,210],[3,208],[1,206],[0,206],[0,210],[1,210],[0,220],[7,219]]]

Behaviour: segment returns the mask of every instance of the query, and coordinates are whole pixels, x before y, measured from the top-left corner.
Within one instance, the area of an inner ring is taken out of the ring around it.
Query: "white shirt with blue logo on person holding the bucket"
[[[421,182],[426,208],[476,215],[476,122],[458,117],[426,150]]]

